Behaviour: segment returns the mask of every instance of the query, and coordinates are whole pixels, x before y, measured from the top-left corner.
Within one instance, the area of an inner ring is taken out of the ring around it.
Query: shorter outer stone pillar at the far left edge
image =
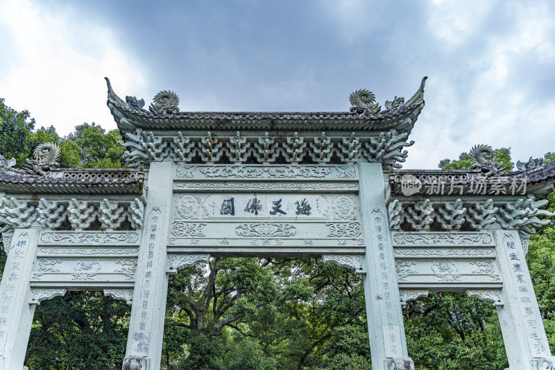
[[[37,253],[39,230],[15,229],[0,283],[0,370],[21,370],[35,305],[30,305],[29,279]]]

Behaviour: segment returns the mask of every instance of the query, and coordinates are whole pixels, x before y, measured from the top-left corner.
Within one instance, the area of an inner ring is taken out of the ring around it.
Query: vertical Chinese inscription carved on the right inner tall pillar
[[[385,224],[385,216],[382,208],[375,207],[370,212],[370,233],[373,238],[374,260],[377,262],[377,292],[378,295],[373,297],[379,301],[379,310],[384,319],[383,334],[386,351],[386,358],[395,358],[402,355],[402,344],[400,328],[398,323],[398,314],[396,304],[399,299],[394,297],[393,279],[397,278],[393,271],[393,247],[389,235],[389,228]]]

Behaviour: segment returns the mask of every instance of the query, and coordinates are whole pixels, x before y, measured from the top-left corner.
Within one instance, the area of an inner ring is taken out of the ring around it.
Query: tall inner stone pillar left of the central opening
[[[168,289],[166,249],[172,185],[173,162],[151,162],[123,370],[160,369]]]

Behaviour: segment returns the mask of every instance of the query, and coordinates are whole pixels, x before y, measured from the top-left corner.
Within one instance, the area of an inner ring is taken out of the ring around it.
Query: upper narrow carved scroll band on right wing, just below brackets
[[[403,245],[493,245],[490,233],[393,233],[393,244]]]

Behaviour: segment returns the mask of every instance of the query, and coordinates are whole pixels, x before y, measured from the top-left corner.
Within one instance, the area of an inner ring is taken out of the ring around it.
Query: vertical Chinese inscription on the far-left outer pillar
[[[29,234],[22,231],[12,242],[12,249],[8,252],[8,260],[0,290],[0,355],[4,354],[6,346],[8,323],[14,312],[16,292],[21,283],[22,268],[29,246]],[[26,282],[25,282],[26,283]]]

